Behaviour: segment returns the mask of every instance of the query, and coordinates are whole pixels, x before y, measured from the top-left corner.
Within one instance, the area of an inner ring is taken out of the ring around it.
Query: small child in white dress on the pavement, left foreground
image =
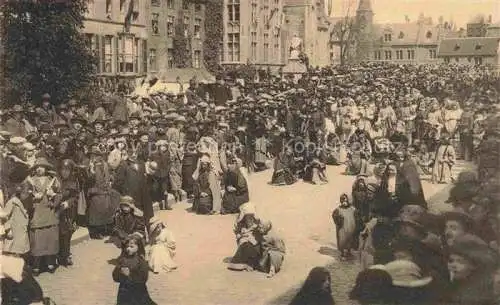
[[[176,243],[172,232],[157,217],[151,218],[149,232],[151,246],[148,262],[153,273],[177,269],[177,263],[174,261]]]

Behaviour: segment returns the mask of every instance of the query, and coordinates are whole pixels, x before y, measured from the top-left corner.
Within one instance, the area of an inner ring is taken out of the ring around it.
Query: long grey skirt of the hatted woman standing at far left
[[[59,253],[59,225],[30,229],[31,255],[47,256]]]

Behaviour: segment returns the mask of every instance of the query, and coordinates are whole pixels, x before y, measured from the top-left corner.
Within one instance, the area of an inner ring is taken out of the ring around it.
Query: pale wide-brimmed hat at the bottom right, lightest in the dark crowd
[[[392,278],[392,285],[397,287],[418,288],[432,282],[431,276],[424,276],[420,267],[408,260],[395,260],[386,265],[373,265],[370,269],[386,271]]]

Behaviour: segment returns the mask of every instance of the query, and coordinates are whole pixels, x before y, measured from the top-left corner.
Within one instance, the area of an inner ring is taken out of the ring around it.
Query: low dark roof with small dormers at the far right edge
[[[438,56],[495,56],[500,37],[467,37],[443,39]]]

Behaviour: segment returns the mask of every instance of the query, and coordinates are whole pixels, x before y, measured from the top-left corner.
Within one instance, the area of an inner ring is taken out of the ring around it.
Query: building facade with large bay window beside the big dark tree
[[[89,0],[84,29],[102,86],[134,88],[148,72],[149,0]],[[130,26],[125,27],[131,13]]]

